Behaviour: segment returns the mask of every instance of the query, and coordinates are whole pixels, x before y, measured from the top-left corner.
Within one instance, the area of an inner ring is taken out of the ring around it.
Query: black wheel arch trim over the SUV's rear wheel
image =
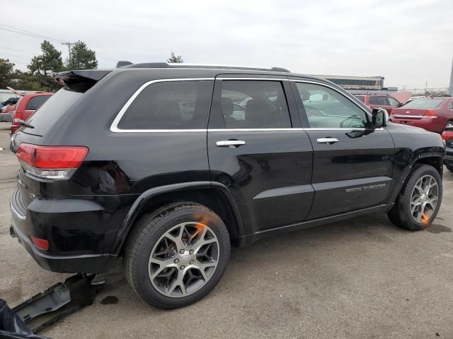
[[[144,191],[132,204],[117,232],[113,254],[122,255],[135,222],[144,214],[176,202],[199,203],[210,208],[225,222],[231,245],[239,246],[243,224],[239,208],[229,189],[217,182],[170,184]]]

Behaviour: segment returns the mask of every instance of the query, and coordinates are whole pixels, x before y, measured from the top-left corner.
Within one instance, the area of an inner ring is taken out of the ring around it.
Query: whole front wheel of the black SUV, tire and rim
[[[425,183],[428,182],[428,179],[430,178],[435,180],[437,186],[430,189],[431,195],[421,196],[419,194],[420,190],[415,188],[415,185],[419,185],[420,182],[420,185],[423,186],[423,181],[420,181],[422,178],[425,178]],[[435,189],[437,189],[437,191],[435,191]],[[437,201],[434,199],[435,194],[437,194]],[[428,200],[435,201],[434,208],[432,208],[432,202],[427,203]],[[411,201],[414,201],[414,203],[411,203]],[[425,205],[423,205],[423,203],[425,203]],[[407,230],[425,230],[425,228],[429,227],[436,218],[441,203],[442,178],[440,177],[439,172],[429,165],[415,165],[412,172],[408,175],[401,192],[398,194],[394,207],[391,208],[388,213],[389,219],[395,225],[406,228]],[[411,210],[411,207],[413,206],[414,210]],[[426,206],[424,210],[422,210],[423,206]],[[417,217],[421,217],[420,220],[418,220]]]

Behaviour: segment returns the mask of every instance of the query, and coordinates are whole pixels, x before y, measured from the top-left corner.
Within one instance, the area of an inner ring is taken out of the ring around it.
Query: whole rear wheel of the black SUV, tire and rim
[[[125,249],[125,275],[144,302],[176,309],[197,302],[217,285],[229,254],[229,233],[217,214],[196,203],[173,203],[134,225]]]

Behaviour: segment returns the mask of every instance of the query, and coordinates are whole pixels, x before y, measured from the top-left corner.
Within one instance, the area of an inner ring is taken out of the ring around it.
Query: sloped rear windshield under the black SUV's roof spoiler
[[[43,136],[52,126],[53,122],[60,119],[67,109],[74,105],[84,93],[74,92],[64,87],[54,95],[47,97],[47,101],[37,109],[29,118],[28,123],[34,129],[26,129],[28,133]]]

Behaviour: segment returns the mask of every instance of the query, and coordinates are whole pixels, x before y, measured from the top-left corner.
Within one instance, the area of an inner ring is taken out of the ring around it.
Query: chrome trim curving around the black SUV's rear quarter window
[[[205,131],[205,129],[120,129],[118,128],[118,124],[120,123],[122,117],[125,115],[125,112],[127,109],[132,105],[132,102],[134,102],[135,98],[142,93],[142,90],[147,88],[149,85],[152,85],[153,83],[166,83],[166,82],[171,82],[171,81],[203,81],[203,80],[210,80],[214,81],[214,78],[174,78],[174,79],[157,79],[157,80],[151,80],[139,87],[138,90],[132,94],[132,96],[127,100],[125,105],[120,109],[120,112],[118,112],[117,116],[113,120],[112,124],[110,125],[110,131],[115,132],[115,133],[143,133],[143,132],[162,132],[162,133],[168,133],[168,132],[173,132],[173,131],[180,131],[180,132],[195,132],[195,131]]]

